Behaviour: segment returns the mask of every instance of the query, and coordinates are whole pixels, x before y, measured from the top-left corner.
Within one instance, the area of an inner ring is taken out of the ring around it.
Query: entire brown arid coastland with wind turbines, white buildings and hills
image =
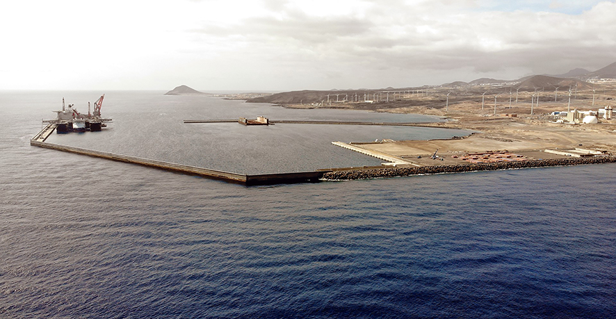
[[[421,88],[284,92],[249,101],[287,108],[435,115],[446,121],[416,125],[471,131],[469,136],[449,140],[333,142],[380,158],[387,167],[485,165],[615,154],[612,112],[616,81],[541,75],[519,81],[480,80]]]

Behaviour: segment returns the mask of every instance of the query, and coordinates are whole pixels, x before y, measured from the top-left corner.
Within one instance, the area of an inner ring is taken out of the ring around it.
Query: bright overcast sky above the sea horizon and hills
[[[405,88],[616,62],[616,0],[10,0],[0,90]]]

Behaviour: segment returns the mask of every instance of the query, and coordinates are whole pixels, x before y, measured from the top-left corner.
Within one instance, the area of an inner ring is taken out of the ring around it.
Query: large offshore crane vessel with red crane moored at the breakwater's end
[[[54,111],[58,113],[55,120],[43,120],[44,123],[56,124],[56,133],[70,133],[70,132],[85,132],[85,131],[101,131],[103,127],[106,127],[106,122],[111,122],[111,119],[101,117],[101,106],[103,105],[103,99],[105,95],[102,95],[94,103],[94,112],[90,113],[90,102],[88,102],[88,114],[82,114],[77,112],[77,109],[73,104],[65,106],[64,98],[62,99],[62,111]]]

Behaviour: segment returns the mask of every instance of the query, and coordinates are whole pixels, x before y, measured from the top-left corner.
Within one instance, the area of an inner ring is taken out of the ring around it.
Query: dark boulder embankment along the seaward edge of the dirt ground
[[[459,165],[434,165],[421,167],[387,167],[373,170],[341,170],[325,172],[325,180],[351,180],[351,179],[373,179],[378,177],[402,177],[419,174],[441,174],[441,173],[460,173],[476,172],[483,170],[512,170],[530,167],[548,167],[565,165],[584,165],[616,163],[616,156],[598,156],[591,158],[557,158],[530,160],[521,162],[499,162],[499,163],[478,163],[478,164],[459,164]]]

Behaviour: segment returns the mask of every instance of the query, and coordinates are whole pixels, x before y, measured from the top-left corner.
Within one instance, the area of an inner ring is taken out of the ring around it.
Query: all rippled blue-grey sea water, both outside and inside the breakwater
[[[52,141],[271,172],[464,133],[182,124],[411,117],[162,93],[108,92],[106,131]],[[62,97],[98,96],[0,92],[0,318],[616,317],[616,165],[246,188],[29,145]]]

